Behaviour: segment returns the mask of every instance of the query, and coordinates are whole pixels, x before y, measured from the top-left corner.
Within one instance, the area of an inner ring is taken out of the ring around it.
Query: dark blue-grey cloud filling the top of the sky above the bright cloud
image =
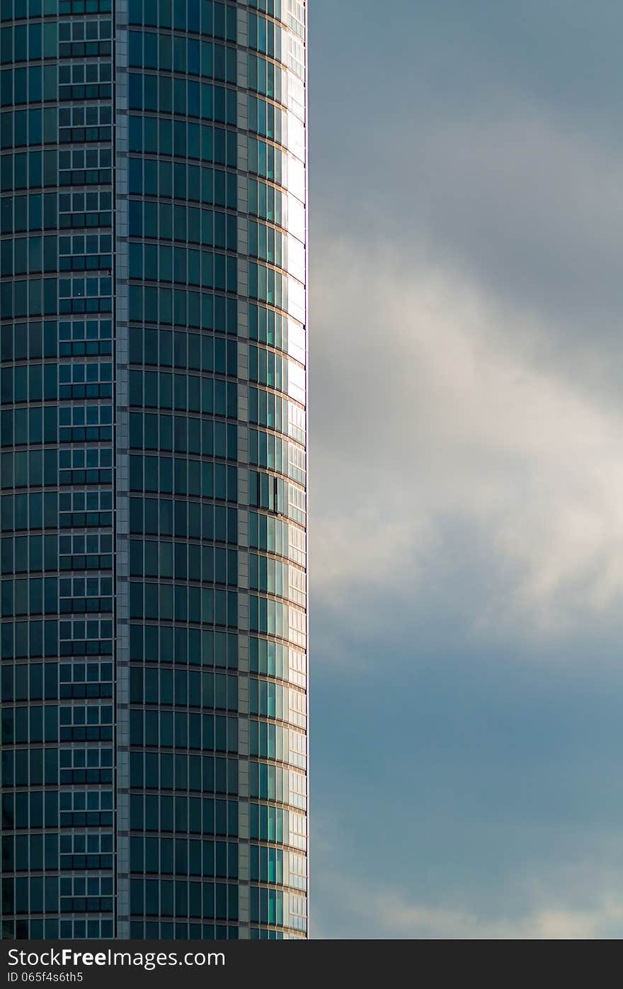
[[[371,244],[409,253],[416,238],[435,261],[545,316],[547,333],[531,341],[542,360],[618,388],[620,8],[358,10],[344,84],[326,69],[316,84],[312,233],[320,212]],[[351,20],[348,4],[337,17]],[[343,41],[334,30],[322,51]]]

